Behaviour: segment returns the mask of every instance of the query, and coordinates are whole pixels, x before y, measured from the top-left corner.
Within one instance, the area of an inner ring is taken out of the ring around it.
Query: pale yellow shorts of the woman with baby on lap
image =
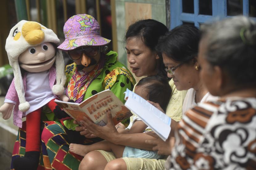
[[[97,150],[100,152],[105,159],[110,162],[111,160],[116,159],[114,153],[106,152],[103,150]],[[127,166],[127,170],[163,170],[166,159],[147,159],[147,158],[122,158]]]

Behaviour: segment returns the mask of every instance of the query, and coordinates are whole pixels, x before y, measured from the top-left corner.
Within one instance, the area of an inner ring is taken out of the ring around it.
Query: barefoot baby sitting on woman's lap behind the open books
[[[166,77],[153,75],[141,79],[136,85],[134,92],[145,100],[159,103],[161,108],[163,108],[165,111],[171,96],[171,87]],[[151,130],[150,127],[142,122],[141,119],[139,119],[137,116],[133,117],[133,120],[130,122],[126,129],[122,123],[119,123],[116,127],[119,133],[143,133],[145,131]],[[108,152],[113,152],[116,158],[162,158],[162,156],[158,155],[155,151],[147,151],[129,146],[116,145],[109,141],[101,141],[92,145],[70,144],[69,149],[71,152],[81,156],[85,156],[87,153],[94,150],[105,150]]]

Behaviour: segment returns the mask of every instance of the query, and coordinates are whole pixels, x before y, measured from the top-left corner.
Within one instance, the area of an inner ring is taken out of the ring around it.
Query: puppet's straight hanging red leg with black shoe
[[[26,116],[26,149],[24,157],[13,161],[15,170],[37,169],[40,155],[40,119],[41,108]]]

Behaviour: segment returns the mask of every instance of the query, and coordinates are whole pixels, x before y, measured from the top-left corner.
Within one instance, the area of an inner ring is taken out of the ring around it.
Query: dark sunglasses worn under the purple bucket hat
[[[83,54],[89,57],[97,56],[100,47],[83,47],[68,51],[68,55],[72,60],[79,60]]]

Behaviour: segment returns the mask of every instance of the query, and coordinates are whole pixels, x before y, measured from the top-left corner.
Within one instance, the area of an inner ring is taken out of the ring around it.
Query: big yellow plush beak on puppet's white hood
[[[25,40],[32,45],[40,44],[44,39],[44,33],[41,26],[34,21],[27,21],[22,26],[22,35]]]

